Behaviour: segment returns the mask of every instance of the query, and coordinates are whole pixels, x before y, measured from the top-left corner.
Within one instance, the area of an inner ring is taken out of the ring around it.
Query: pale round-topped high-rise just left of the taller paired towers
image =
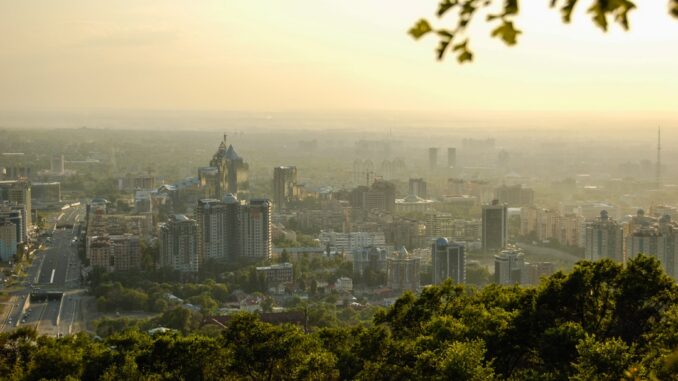
[[[198,272],[198,223],[183,214],[172,215],[160,225],[160,267]]]

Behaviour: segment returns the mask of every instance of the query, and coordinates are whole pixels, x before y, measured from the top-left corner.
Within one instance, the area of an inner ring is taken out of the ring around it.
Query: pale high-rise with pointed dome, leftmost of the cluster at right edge
[[[607,215],[607,211],[600,212],[600,217],[586,226],[585,258],[597,261],[603,258],[622,262],[623,229],[615,220]]]

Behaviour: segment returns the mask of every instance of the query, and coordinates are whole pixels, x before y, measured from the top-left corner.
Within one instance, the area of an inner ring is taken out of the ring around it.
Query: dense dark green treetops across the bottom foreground
[[[321,319],[323,312],[312,314]],[[583,261],[536,288],[477,289],[445,282],[420,295],[404,294],[371,325],[328,324],[305,332],[236,314],[217,331],[213,325],[204,329],[198,313],[182,308],[165,312],[154,324],[174,331],[151,335],[134,322],[102,320],[97,329],[107,330],[104,339],[86,334],[55,339],[25,328],[0,334],[0,375],[10,380],[678,379],[678,287],[656,259],[642,255],[626,266]]]

